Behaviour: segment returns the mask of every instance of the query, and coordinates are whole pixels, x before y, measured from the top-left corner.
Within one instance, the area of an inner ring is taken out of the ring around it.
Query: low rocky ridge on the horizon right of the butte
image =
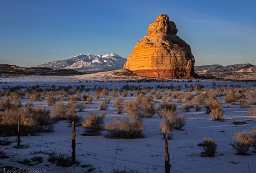
[[[219,64],[194,66],[196,73],[217,73],[217,72],[256,72],[256,66],[252,64],[233,64],[222,66]]]

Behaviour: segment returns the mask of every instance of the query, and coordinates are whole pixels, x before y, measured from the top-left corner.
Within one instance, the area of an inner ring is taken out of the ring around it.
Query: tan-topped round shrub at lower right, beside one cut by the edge
[[[253,139],[243,131],[234,135],[233,140],[231,146],[236,150],[236,154],[247,155]]]

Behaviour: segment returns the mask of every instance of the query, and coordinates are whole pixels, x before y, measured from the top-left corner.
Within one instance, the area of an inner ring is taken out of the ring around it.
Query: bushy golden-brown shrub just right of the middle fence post
[[[91,112],[87,117],[84,117],[82,126],[85,128],[85,134],[99,135],[100,131],[102,131],[104,127],[104,118],[105,114],[96,115]]]

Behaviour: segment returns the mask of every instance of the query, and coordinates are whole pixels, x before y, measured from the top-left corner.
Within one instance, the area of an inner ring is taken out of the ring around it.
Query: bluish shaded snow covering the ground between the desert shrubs
[[[253,87],[255,82],[228,82],[228,81],[192,81],[185,80],[173,82],[137,82],[137,81],[92,81],[93,75],[80,75],[75,77],[9,77],[1,78],[0,88],[4,89],[9,86],[34,86],[39,85],[43,88],[55,86],[80,86],[93,88],[102,86],[107,88],[120,88],[126,84],[136,86],[181,86],[185,90],[185,84],[195,85],[203,84],[206,88],[213,85],[226,86],[241,85],[243,87]],[[95,78],[94,78],[95,79]],[[99,78],[98,78],[99,79]],[[102,80],[102,78],[100,78]],[[79,81],[80,80],[80,81]],[[88,81],[86,81],[88,80]],[[103,78],[104,80],[104,78]],[[120,80],[120,79],[119,79]],[[213,84],[215,83],[215,84]],[[159,92],[159,89],[157,90]],[[169,90],[165,89],[165,92]],[[90,91],[92,92],[92,91]],[[149,94],[149,93],[148,93]],[[98,103],[104,99],[95,99],[92,104],[87,104],[85,112],[78,112],[79,115],[88,115],[89,112],[106,113],[105,122],[112,121],[117,115],[113,107],[115,97],[112,97],[108,109],[98,111]],[[134,100],[135,97],[125,97],[125,102]],[[240,108],[239,104],[230,105],[224,103],[223,97],[217,97],[223,106],[225,121],[212,121],[212,117],[206,114],[204,109],[201,112],[184,112],[181,109],[182,103],[176,103],[179,115],[187,115],[189,118],[182,131],[174,130],[173,139],[169,140],[169,154],[172,173],[256,173],[256,153],[250,152],[251,155],[236,155],[230,143],[233,135],[240,131],[249,131],[256,126],[256,118],[250,117],[248,108]],[[29,99],[21,99],[23,105],[28,103]],[[158,107],[161,100],[154,99],[155,107]],[[42,102],[32,102],[34,106],[46,105],[45,100]],[[203,107],[203,106],[202,106]],[[49,109],[49,106],[47,106]],[[122,113],[120,117],[128,118],[128,115]],[[246,125],[234,125],[233,121],[246,121]],[[101,136],[82,136],[84,129],[76,127],[76,159],[80,165],[91,164],[95,168],[93,173],[110,173],[112,169],[119,170],[137,170],[141,173],[163,173],[164,172],[164,139],[159,130],[160,120],[155,114],[152,118],[143,118],[146,126],[144,131],[145,138],[141,139],[109,139],[104,138],[107,133],[103,131]],[[217,146],[215,157],[200,157],[201,147],[198,147],[204,137],[213,138]],[[3,137],[1,137],[3,138]],[[6,138],[6,137],[4,137]],[[16,137],[10,137],[15,140]],[[47,161],[48,155],[43,151],[54,151],[56,153],[66,153],[71,155],[71,127],[68,122],[60,121],[55,124],[55,131],[50,133],[41,133],[39,136],[21,137],[21,144],[27,144],[29,148],[16,149],[12,143],[8,146],[0,146],[10,158],[0,160],[0,167],[13,166],[26,170],[44,170],[46,173],[82,173],[91,167],[83,168],[81,166],[72,166],[68,168],[57,167],[55,164]],[[32,158],[31,153],[42,151],[39,154],[43,157],[43,163],[33,166],[24,166],[17,163],[18,160]],[[116,159],[115,159],[116,156]],[[113,163],[113,164],[112,164]]]

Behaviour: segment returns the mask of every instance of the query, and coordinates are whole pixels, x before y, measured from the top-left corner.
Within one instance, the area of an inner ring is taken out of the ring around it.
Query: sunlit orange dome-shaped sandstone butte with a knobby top
[[[134,47],[124,68],[139,76],[160,78],[195,77],[190,46],[177,35],[174,22],[165,14],[157,16]]]

